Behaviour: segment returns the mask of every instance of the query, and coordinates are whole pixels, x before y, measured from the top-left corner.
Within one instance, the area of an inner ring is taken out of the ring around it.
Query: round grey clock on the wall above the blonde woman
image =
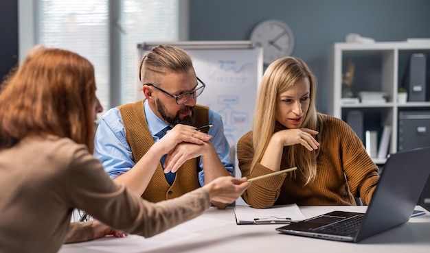
[[[251,41],[263,48],[264,64],[271,64],[293,52],[293,33],[281,21],[269,20],[258,24],[251,33]]]

